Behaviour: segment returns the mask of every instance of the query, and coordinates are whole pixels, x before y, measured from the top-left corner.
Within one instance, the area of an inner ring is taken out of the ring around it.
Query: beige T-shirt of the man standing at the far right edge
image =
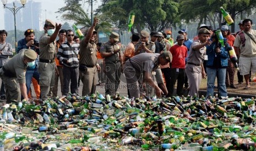
[[[254,41],[256,40],[256,30],[251,30],[247,33],[253,37]],[[250,39],[250,37],[246,33],[244,33],[244,37],[246,38],[244,46],[242,45],[241,37],[239,36],[239,34],[237,34],[233,46],[240,49],[241,56],[243,57],[256,56],[256,44],[253,42],[252,39]]]

